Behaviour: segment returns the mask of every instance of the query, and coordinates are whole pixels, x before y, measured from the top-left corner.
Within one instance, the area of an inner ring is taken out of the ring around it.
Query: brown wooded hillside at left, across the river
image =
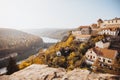
[[[10,55],[17,56],[17,60],[25,59],[43,46],[43,40],[22,31],[0,28],[0,67]],[[24,57],[23,57],[24,56]]]

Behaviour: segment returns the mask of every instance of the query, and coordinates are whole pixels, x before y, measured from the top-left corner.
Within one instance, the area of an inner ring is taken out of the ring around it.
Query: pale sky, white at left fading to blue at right
[[[0,0],[0,28],[76,28],[120,17],[120,0]]]

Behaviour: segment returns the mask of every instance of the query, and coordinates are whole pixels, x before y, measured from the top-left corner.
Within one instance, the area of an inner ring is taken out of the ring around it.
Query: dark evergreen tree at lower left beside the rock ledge
[[[16,60],[13,57],[10,57],[9,63],[7,66],[7,74],[10,75],[16,71],[18,71],[18,66],[16,65]]]

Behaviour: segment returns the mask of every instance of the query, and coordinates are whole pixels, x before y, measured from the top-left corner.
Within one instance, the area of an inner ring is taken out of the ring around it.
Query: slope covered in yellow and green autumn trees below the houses
[[[74,41],[73,35],[69,35],[65,41],[58,42],[45,51],[40,51],[38,55],[30,56],[18,65],[19,69],[23,69],[32,64],[47,64],[49,67],[62,67],[68,71],[75,68],[91,69],[85,62],[85,53],[88,49],[93,48],[96,42],[105,38],[105,35],[98,35],[92,36],[88,42],[77,42]],[[115,69],[119,68],[119,57],[116,58],[116,63],[113,67]],[[108,70],[108,68],[102,70],[102,68],[98,67],[95,71],[119,74],[119,70]]]

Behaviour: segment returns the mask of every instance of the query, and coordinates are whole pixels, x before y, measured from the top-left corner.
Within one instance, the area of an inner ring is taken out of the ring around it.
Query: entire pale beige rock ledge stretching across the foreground
[[[79,68],[66,72],[63,68],[33,64],[11,75],[0,76],[0,80],[120,80],[120,75],[94,73]]]

